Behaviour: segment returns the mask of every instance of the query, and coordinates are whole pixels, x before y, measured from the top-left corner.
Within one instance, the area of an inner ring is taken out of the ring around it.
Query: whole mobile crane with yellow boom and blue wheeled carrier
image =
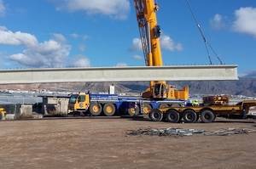
[[[160,26],[157,24],[156,12],[158,5],[154,0],[135,0],[137,22],[143,53],[147,66],[163,66],[160,48]],[[154,72],[152,72],[154,73]],[[150,82],[150,87],[143,93],[142,98],[120,97],[111,94],[73,94],[69,101],[68,111],[90,111],[90,115],[115,115],[116,112],[127,110],[130,115],[139,112],[148,114],[151,109],[165,108],[171,104],[183,104],[189,99],[189,87],[177,90],[164,81]]]

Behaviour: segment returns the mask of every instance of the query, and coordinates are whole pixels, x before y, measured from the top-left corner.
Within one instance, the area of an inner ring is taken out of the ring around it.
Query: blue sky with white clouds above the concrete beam
[[[209,64],[185,1],[158,3],[165,65]],[[190,3],[221,59],[256,70],[256,2]],[[0,0],[0,26],[1,69],[144,65],[133,1]]]

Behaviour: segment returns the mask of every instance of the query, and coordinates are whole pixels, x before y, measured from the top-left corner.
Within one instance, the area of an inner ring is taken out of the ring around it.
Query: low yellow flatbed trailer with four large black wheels
[[[183,107],[167,107],[164,109],[153,109],[148,117],[151,121],[184,121],[193,123],[201,119],[202,122],[215,121],[217,116],[228,117],[231,115],[246,118],[251,107],[256,106],[256,100],[244,100],[236,105],[197,105]]]

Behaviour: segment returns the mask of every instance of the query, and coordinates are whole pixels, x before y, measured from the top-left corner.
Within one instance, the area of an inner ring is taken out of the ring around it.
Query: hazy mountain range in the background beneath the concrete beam
[[[243,76],[238,81],[210,82],[169,82],[177,88],[189,86],[190,94],[230,94],[256,97],[256,72]],[[115,86],[116,93],[142,93],[148,82],[67,82],[43,84],[0,85],[0,90],[49,90],[58,92],[107,93],[110,85]]]

